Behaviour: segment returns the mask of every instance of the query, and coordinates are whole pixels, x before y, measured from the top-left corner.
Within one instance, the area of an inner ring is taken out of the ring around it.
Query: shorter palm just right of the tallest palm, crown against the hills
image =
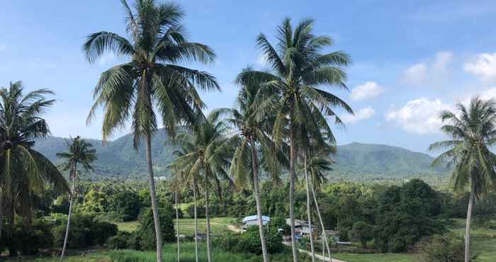
[[[205,195],[205,218],[207,227],[207,257],[212,261],[210,241],[210,215],[208,214],[210,187],[215,186],[220,194],[220,181],[232,183],[226,169],[230,166],[230,147],[225,136],[225,124],[219,120],[220,113],[213,111],[205,122],[193,127],[193,133],[184,133],[176,140],[178,144],[188,144],[193,150],[176,159],[176,165],[191,166],[189,176],[200,178]],[[232,155],[232,154],[231,154]],[[194,183],[193,183],[194,184]],[[196,190],[196,188],[194,188]]]

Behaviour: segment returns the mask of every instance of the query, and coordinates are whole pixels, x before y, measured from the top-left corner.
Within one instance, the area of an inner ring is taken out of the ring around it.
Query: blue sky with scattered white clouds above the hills
[[[190,40],[213,47],[214,64],[188,67],[214,74],[222,92],[201,93],[208,110],[231,107],[235,76],[267,65],[259,33],[274,42],[283,18],[314,18],[314,33],[347,52],[349,91],[327,91],[348,102],[346,127],[332,126],[338,144],[363,142],[427,152],[445,139],[439,111],[475,95],[496,96],[496,1],[177,1]],[[27,90],[49,88],[57,103],[46,114],[52,135],[101,138],[101,112],[86,116],[99,75],[127,61],[108,53],[86,62],[86,35],[108,30],[126,36],[120,1],[3,0],[0,8],[0,86],[22,80]],[[115,132],[113,139],[128,132]],[[435,154],[435,152],[428,152]]]

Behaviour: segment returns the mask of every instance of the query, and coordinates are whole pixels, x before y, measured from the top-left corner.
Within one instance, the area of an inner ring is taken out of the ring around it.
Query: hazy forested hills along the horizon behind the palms
[[[173,161],[174,149],[166,143],[168,137],[163,130],[157,131],[152,139],[152,155],[156,176],[169,176],[167,166]],[[138,152],[133,148],[133,135],[125,135],[103,145],[101,140],[88,139],[97,152],[93,179],[146,179],[145,144]],[[67,143],[61,137],[47,137],[36,142],[35,149],[57,162],[57,152],[67,150]],[[412,177],[442,177],[442,169],[431,169],[433,158],[427,154],[411,152],[400,147],[382,144],[351,143],[338,147],[334,156],[336,164],[329,178],[350,181],[404,180]]]

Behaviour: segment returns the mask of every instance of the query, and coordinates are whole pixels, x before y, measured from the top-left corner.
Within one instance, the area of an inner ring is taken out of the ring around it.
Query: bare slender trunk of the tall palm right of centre
[[[295,239],[295,161],[296,161],[296,130],[293,125],[290,127],[289,142],[290,142],[290,155],[289,155],[289,221],[291,227],[291,248],[293,249],[293,262],[298,262],[298,249],[296,249]]]

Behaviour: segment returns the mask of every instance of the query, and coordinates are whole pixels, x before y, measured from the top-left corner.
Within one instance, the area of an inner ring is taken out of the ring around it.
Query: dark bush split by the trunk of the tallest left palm
[[[174,221],[168,209],[159,209],[160,227],[162,229],[162,241],[171,242],[176,239],[174,232]],[[175,216],[175,215],[174,215]],[[140,213],[140,227],[136,231],[135,237],[137,246],[135,249],[152,250],[156,248],[155,224],[153,212],[150,208],[145,208]]]

